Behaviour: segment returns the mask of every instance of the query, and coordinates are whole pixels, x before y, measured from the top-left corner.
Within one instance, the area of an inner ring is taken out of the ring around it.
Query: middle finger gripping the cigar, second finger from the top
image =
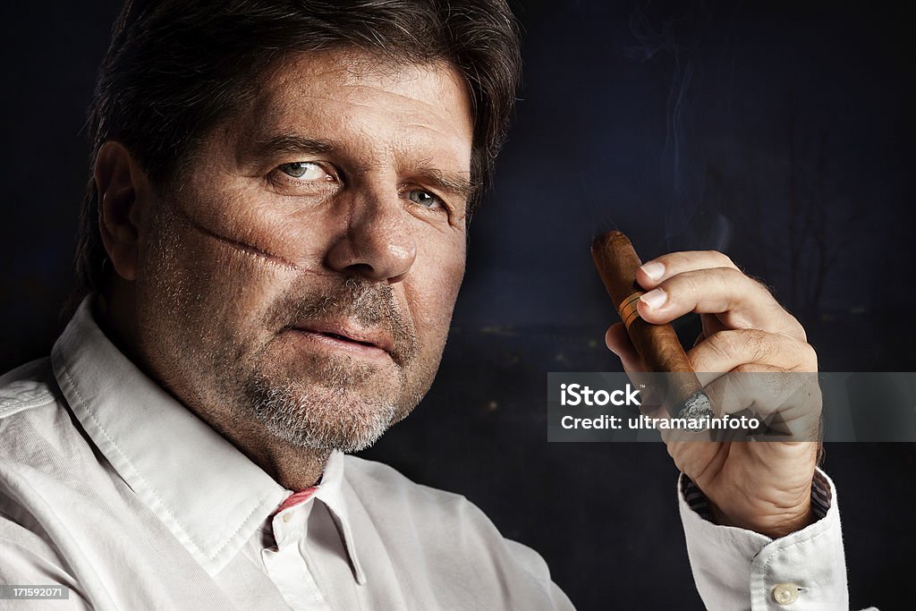
[[[716,314],[732,329],[784,333],[804,341],[804,330],[756,280],[733,267],[684,272],[642,295],[639,315],[656,324],[671,322],[688,312]]]

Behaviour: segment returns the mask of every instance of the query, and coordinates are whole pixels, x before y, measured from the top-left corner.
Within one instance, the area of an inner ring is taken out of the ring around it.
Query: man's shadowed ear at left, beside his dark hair
[[[120,142],[109,140],[95,158],[99,194],[99,229],[108,259],[118,276],[136,278],[140,235],[147,204],[147,175]]]

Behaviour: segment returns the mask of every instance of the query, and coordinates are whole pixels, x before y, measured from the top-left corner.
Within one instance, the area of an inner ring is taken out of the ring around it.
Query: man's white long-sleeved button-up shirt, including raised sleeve
[[[333,453],[315,494],[277,512],[292,493],[122,355],[88,300],[50,359],[0,377],[0,439],[0,584],[71,588],[9,608],[573,608],[467,499],[384,464]],[[823,482],[825,517],[779,540],[679,494],[706,606],[846,608]]]

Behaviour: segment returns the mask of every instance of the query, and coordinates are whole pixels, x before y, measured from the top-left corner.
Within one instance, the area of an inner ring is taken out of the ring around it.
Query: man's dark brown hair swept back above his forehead
[[[253,99],[253,75],[289,51],[342,48],[444,61],[463,76],[474,104],[471,180],[480,185],[470,219],[518,86],[518,27],[505,0],[128,0],[95,88],[92,163],[117,140],[154,186],[166,187],[209,130]],[[81,224],[77,273],[83,290],[97,290],[105,251],[92,177]]]

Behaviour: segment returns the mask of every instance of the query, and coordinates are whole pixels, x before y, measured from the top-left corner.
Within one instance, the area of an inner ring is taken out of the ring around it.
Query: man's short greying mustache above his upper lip
[[[325,282],[311,278],[307,288],[290,293],[270,316],[283,329],[300,321],[353,321],[390,334],[391,356],[398,365],[406,365],[419,351],[417,333],[398,308],[394,289],[388,284],[352,276]]]

